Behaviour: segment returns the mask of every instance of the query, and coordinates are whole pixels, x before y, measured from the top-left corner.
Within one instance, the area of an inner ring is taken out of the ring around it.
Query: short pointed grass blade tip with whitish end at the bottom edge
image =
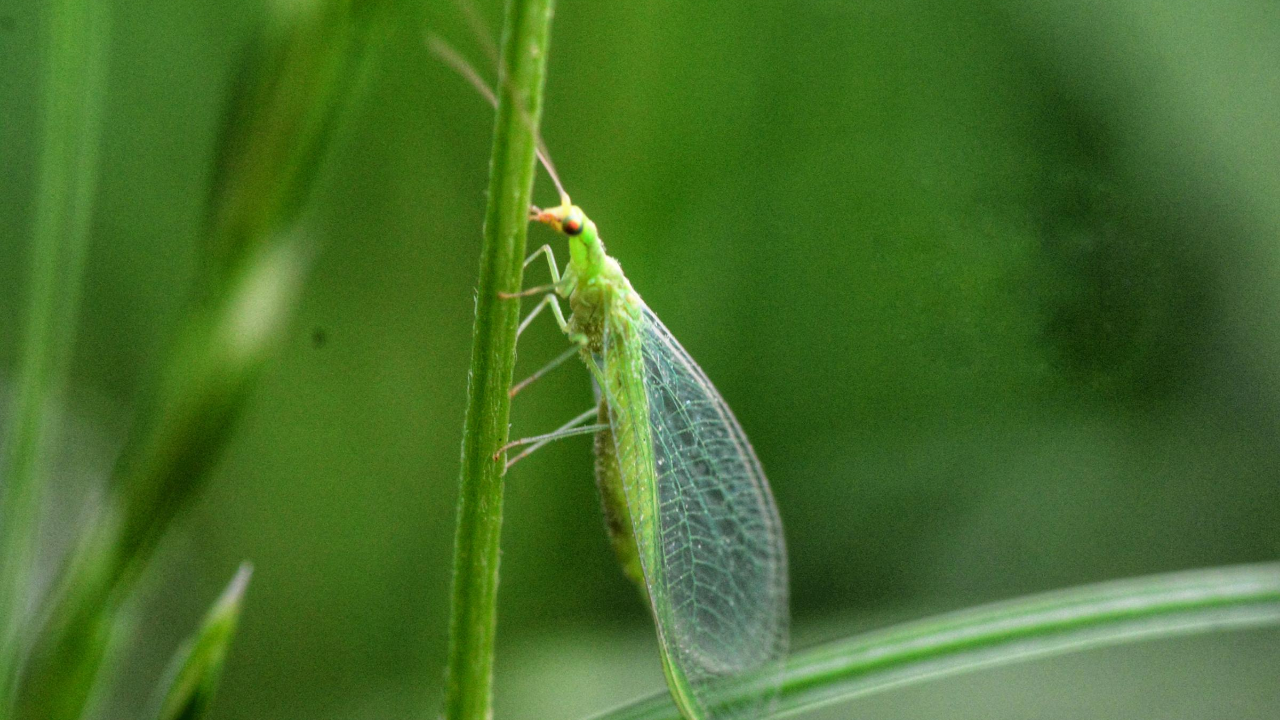
[[[178,648],[170,665],[156,720],[200,720],[212,705],[218,682],[223,675],[227,650],[236,635],[244,589],[253,569],[241,565],[221,597],[209,610],[196,635]]]

